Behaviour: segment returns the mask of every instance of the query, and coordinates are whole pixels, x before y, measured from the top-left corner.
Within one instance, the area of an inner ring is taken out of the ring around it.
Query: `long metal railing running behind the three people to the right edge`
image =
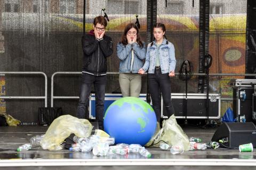
[[[54,99],[79,99],[79,96],[54,96],[53,82],[56,74],[82,74],[82,72],[55,72],[51,77],[51,107],[53,107]],[[107,74],[119,74],[119,72],[107,72]],[[179,73],[175,73],[179,75]],[[194,73],[193,75],[206,75],[205,73]],[[248,76],[256,77],[256,74],[235,74],[235,73],[210,73],[209,76],[228,76],[228,77],[238,77],[238,76]],[[225,98],[226,99],[226,98]],[[226,100],[229,100],[228,98]]]

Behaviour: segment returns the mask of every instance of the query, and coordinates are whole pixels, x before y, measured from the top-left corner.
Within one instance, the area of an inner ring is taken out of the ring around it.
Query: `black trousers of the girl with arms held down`
[[[169,73],[162,74],[161,69],[155,69],[154,74],[148,74],[149,93],[152,98],[153,109],[156,113],[157,122],[161,119],[161,97],[162,93],[167,116],[174,114],[171,101],[171,82]]]

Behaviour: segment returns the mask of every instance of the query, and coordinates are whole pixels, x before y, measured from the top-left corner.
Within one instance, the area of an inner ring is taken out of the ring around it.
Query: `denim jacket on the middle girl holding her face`
[[[138,73],[139,69],[143,66],[142,60],[146,58],[146,45],[142,42],[143,47],[141,48],[138,43],[127,44],[126,46],[122,43],[118,43],[116,46],[117,56],[120,59],[119,72],[130,73],[131,60],[132,60],[132,49],[134,54],[132,73]]]

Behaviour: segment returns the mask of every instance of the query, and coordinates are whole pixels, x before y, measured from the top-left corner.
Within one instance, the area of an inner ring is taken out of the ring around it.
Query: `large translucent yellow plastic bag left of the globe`
[[[63,115],[52,122],[40,144],[43,149],[61,150],[60,143],[71,133],[80,138],[87,138],[91,135],[92,128],[92,124],[86,119]]]

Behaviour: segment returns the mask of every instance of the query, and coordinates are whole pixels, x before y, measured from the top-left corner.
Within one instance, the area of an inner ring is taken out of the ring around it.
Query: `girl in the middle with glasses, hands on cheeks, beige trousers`
[[[139,97],[141,90],[141,75],[139,69],[146,57],[145,43],[140,40],[139,29],[134,23],[129,23],[124,29],[122,40],[117,44],[119,63],[119,84],[123,97]]]

